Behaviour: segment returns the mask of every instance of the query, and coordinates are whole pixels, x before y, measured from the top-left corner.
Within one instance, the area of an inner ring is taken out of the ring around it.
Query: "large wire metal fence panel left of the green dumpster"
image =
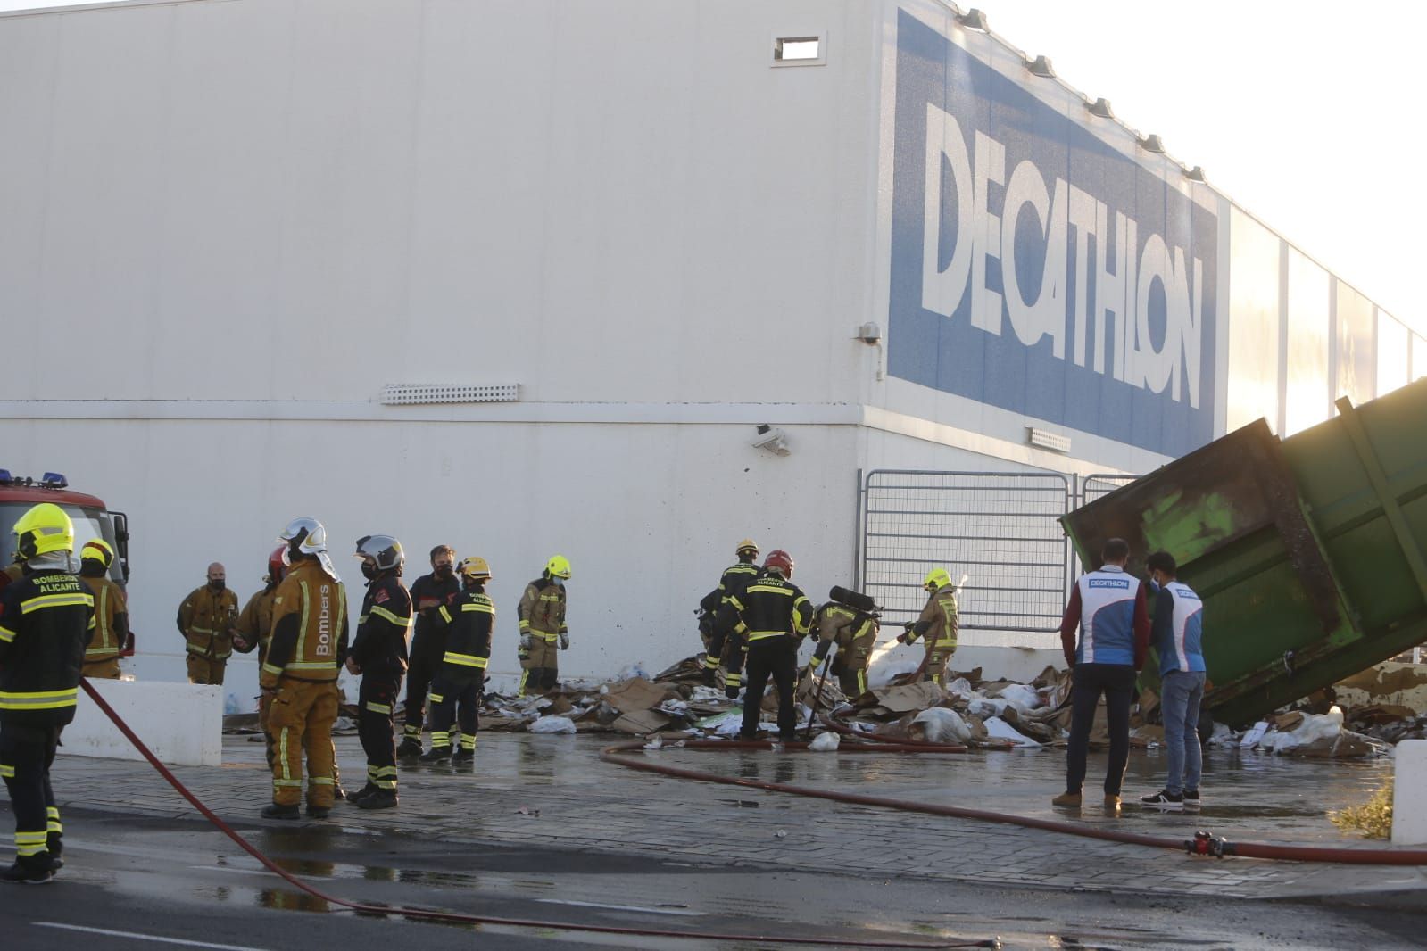
[[[968,630],[1060,626],[1070,549],[1057,518],[1072,498],[1055,472],[873,471],[863,489],[863,590],[892,623],[922,610],[922,579],[946,567],[962,585]]]

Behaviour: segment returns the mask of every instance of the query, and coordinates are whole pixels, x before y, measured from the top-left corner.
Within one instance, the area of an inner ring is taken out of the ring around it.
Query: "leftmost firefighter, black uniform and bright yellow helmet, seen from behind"
[[[74,525],[61,508],[36,505],[14,535],[23,573],[0,590],[0,777],[14,813],[16,860],[0,881],[44,883],[64,864],[50,764],[74,719],[94,596],[70,573]]]

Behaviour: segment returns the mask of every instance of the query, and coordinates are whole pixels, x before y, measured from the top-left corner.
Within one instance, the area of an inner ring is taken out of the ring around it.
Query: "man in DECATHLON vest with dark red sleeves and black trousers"
[[[1102,566],[1076,580],[1060,620],[1060,643],[1073,679],[1066,791],[1050,800],[1055,806],[1080,806],[1090,727],[1103,696],[1106,729],[1110,734],[1104,806],[1112,810],[1120,807],[1120,784],[1130,760],[1134,674],[1144,666],[1150,643],[1144,586],[1124,570],[1129,557],[1130,546],[1123,539],[1107,540],[1100,550]],[[1080,629],[1079,642],[1076,627]]]

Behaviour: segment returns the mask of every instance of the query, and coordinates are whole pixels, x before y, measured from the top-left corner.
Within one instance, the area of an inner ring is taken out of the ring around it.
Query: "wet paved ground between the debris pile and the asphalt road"
[[[601,761],[598,751],[611,741],[487,733],[475,766],[402,770],[398,810],[368,813],[342,804],[331,820],[311,826],[411,833],[447,843],[539,841],[565,850],[715,865],[850,868],[899,878],[1077,891],[1303,898],[1427,890],[1421,868],[1193,858],[1003,824],[666,778]],[[906,756],[664,749],[645,756],[721,774],[1114,824],[1173,840],[1207,828],[1237,841],[1344,847],[1368,843],[1340,833],[1327,811],[1366,800],[1391,770],[1390,760],[1306,761],[1214,750],[1206,766],[1200,814],[1126,806],[1116,817],[1106,816],[1093,794],[1079,814],[1050,807],[1050,797],[1063,786],[1059,750]],[[227,737],[224,760],[223,767],[176,773],[221,816],[244,827],[273,827],[257,817],[270,796],[261,743]],[[355,737],[338,737],[338,761],[348,786],[358,786],[365,768]],[[1162,768],[1162,751],[1134,751],[1126,796],[1159,788]],[[1103,754],[1092,754],[1089,793],[1097,790],[1103,770]],[[54,781],[71,807],[191,816],[187,803],[141,763],[61,757]]]

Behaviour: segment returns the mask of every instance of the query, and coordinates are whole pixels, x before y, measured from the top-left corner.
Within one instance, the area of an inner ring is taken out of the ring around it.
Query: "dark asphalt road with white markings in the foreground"
[[[347,808],[347,807],[342,807]],[[478,801],[472,801],[478,808]],[[9,826],[9,816],[0,817]],[[67,867],[51,885],[0,890],[6,948],[776,948],[771,941],[596,935],[559,924],[706,934],[935,941],[1006,948],[1413,948],[1423,910],[1076,893],[858,873],[664,861],[598,851],[432,841],[340,821],[254,844],[332,895],[404,908],[539,920],[545,928],[358,915],[303,894],[201,821],[68,813]],[[729,834],[711,828],[711,836]],[[0,860],[9,861],[7,851]],[[1126,883],[1133,887],[1134,883]]]

